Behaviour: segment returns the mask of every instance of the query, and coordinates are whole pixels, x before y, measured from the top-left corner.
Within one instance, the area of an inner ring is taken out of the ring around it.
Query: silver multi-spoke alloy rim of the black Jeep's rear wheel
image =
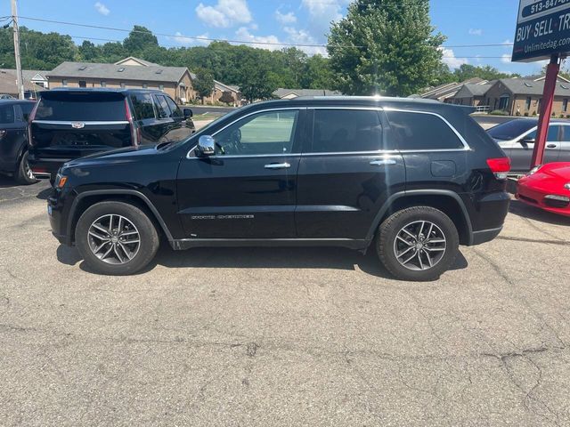
[[[429,270],[444,257],[447,239],[433,222],[416,221],[404,226],[396,234],[396,260],[409,270]]]

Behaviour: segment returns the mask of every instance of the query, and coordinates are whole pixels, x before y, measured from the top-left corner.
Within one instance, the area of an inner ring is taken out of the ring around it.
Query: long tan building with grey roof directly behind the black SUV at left
[[[126,65],[124,62],[128,63]],[[193,101],[191,73],[185,67],[162,67],[133,57],[117,64],[63,62],[47,73],[50,89],[55,87],[125,87],[159,89],[179,103]],[[134,65],[138,63],[138,65]]]

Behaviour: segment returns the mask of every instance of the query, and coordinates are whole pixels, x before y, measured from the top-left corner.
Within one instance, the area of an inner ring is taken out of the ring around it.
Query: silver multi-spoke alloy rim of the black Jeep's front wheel
[[[107,214],[97,218],[87,231],[91,252],[102,262],[125,264],[138,254],[141,236],[125,216]]]

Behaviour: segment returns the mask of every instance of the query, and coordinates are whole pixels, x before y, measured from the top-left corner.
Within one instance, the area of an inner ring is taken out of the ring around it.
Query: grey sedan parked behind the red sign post
[[[511,172],[527,173],[531,170],[537,127],[538,118],[515,118],[487,131],[509,156]],[[544,149],[544,163],[568,161],[570,121],[551,120]]]

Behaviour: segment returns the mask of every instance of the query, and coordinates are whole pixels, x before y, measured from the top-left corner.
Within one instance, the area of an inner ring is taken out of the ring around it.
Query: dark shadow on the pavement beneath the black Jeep
[[[75,247],[60,246],[57,258],[68,265],[81,261]],[[157,265],[170,269],[360,269],[371,276],[395,279],[379,262],[375,251],[363,255],[338,247],[210,247],[174,251],[163,244],[151,264],[138,274],[149,272]],[[85,262],[81,262],[79,267],[93,273]],[[468,262],[460,253],[451,270],[467,267]]]

